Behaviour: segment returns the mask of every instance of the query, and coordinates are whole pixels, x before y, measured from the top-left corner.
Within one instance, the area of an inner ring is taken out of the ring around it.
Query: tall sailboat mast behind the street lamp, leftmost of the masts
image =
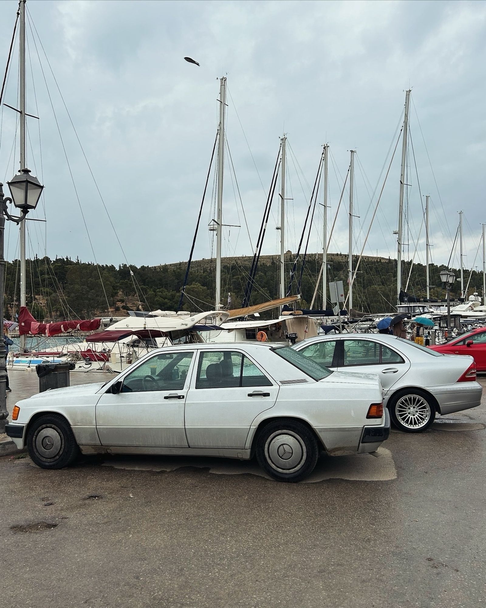
[[[20,170],[26,168],[26,0],[19,3],[20,67]],[[20,305],[26,305],[26,221],[20,223]],[[26,336],[20,336],[20,350],[26,350]]]

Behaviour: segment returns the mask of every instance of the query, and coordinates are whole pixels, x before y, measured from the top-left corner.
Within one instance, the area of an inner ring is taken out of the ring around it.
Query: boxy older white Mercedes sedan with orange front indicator
[[[377,376],[330,371],[290,347],[191,344],[151,351],[104,384],[19,401],[7,434],[46,469],[83,454],[249,459],[298,482],[321,451],[374,452],[389,435]]]

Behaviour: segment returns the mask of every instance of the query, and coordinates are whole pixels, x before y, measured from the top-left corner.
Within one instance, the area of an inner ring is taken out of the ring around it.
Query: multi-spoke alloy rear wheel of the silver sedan
[[[388,410],[392,423],[406,433],[423,433],[436,419],[434,402],[419,389],[392,395]]]

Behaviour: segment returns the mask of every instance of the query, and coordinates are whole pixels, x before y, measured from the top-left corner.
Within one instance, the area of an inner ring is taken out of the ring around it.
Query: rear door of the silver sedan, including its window
[[[410,362],[392,347],[372,339],[339,340],[338,369],[377,374],[383,389],[388,390],[410,368]]]

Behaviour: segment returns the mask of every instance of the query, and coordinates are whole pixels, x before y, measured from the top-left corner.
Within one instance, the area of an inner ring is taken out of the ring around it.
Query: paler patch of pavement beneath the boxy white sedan
[[[253,460],[230,460],[204,457],[111,457],[103,466],[131,471],[175,471],[181,468],[207,469],[216,475],[258,475],[271,479]],[[378,447],[373,454],[356,456],[322,457],[312,475],[302,483],[317,483],[327,479],[345,479],[356,482],[385,482],[397,477],[392,454]],[[273,481],[273,480],[272,480]]]

